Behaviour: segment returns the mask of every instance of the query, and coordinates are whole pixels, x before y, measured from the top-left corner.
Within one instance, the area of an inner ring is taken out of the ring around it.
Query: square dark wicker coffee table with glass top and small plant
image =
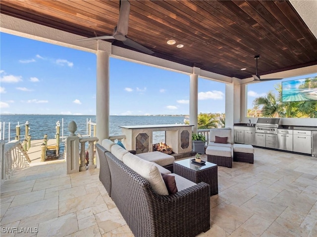
[[[192,159],[174,161],[173,173],[196,184],[205,182],[210,185],[210,195],[218,194],[218,166],[208,161],[205,164],[196,164]]]

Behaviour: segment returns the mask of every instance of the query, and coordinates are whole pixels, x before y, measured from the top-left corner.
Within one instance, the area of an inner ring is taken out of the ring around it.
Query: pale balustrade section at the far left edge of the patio
[[[31,160],[28,154],[22,147],[22,144],[18,140],[13,140],[8,143],[0,141],[0,177],[1,183],[11,178],[13,172],[18,168],[28,167]]]

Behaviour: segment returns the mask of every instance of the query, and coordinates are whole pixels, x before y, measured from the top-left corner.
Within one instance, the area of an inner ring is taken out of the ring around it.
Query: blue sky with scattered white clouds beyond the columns
[[[0,59],[1,114],[96,115],[95,54],[0,33]],[[249,85],[248,107],[276,83]],[[224,83],[198,92],[199,113],[225,112]],[[189,114],[189,76],[110,58],[110,115],[163,114]]]

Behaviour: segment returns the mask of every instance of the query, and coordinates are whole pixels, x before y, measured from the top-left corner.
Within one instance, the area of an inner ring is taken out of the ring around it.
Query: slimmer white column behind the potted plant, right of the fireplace
[[[189,85],[189,123],[192,126],[192,132],[197,133],[198,122],[198,75],[190,75]]]

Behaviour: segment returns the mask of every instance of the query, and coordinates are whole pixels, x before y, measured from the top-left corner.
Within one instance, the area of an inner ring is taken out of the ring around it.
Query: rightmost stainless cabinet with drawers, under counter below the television
[[[312,131],[293,131],[293,152],[312,154]]]

